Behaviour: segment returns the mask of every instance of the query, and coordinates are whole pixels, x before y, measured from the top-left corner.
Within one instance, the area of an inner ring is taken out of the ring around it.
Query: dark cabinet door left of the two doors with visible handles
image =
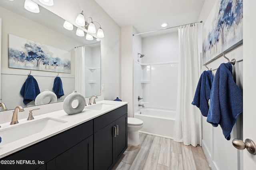
[[[92,170],[93,135],[48,162],[46,167],[47,170]]]

